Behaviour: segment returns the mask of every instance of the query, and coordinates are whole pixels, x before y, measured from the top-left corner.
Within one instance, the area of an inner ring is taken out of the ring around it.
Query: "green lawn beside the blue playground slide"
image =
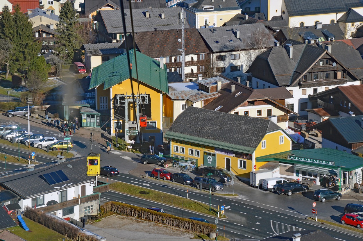
[[[26,217],[23,217],[26,226],[30,229],[25,231],[20,226],[9,228],[9,231],[17,236],[23,238],[26,241],[60,241],[62,238],[66,238],[60,233],[46,228],[45,226],[38,224]],[[67,240],[67,239],[66,239]]]

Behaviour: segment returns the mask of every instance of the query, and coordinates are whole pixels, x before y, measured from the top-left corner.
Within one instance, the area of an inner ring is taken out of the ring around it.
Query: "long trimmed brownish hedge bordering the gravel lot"
[[[172,226],[174,228],[185,229],[189,232],[207,235],[216,232],[216,225],[213,224],[177,217],[167,213],[156,212],[130,204],[111,201],[103,204],[101,207],[103,213],[113,212],[123,216],[131,216],[146,221]]]

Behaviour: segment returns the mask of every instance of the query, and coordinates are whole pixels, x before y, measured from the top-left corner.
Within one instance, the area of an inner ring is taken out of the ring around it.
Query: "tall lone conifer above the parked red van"
[[[66,1],[59,13],[56,23],[58,33],[57,55],[66,62],[71,63],[77,46],[77,19],[76,10],[70,1]]]

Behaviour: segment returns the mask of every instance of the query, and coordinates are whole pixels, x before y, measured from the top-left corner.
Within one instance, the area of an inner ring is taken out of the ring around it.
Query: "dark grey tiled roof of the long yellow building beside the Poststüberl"
[[[165,137],[251,154],[268,132],[277,130],[281,128],[269,120],[191,106],[174,120]]]

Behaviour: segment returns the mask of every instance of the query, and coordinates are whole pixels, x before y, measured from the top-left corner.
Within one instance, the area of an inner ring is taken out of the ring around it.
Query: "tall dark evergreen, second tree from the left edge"
[[[33,37],[33,23],[29,21],[29,17],[21,12],[19,5],[14,10],[15,32],[12,45],[15,62],[11,70],[25,75],[26,69],[40,52],[41,45]]]

